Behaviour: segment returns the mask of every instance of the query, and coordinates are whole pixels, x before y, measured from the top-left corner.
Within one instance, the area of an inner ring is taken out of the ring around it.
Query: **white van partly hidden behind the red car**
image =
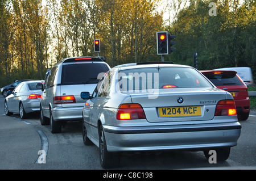
[[[235,68],[221,68],[221,69],[214,69],[214,70],[235,70],[237,74],[243,82],[246,83],[247,86],[253,85],[253,74],[251,73],[251,68],[247,67],[235,67]]]

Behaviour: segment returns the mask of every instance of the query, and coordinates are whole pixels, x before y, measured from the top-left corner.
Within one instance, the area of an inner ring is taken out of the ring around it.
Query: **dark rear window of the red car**
[[[205,77],[207,77],[215,86],[243,85],[236,74],[205,74]]]

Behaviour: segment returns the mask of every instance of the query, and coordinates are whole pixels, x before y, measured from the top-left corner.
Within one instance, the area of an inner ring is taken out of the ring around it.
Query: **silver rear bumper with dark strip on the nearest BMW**
[[[241,124],[112,127],[104,125],[108,151],[204,150],[237,145]]]

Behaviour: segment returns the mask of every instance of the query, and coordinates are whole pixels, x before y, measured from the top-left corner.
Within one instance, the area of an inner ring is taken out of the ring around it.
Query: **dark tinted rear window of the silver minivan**
[[[105,64],[68,64],[63,65],[61,84],[92,84],[98,83],[98,74],[108,71]]]

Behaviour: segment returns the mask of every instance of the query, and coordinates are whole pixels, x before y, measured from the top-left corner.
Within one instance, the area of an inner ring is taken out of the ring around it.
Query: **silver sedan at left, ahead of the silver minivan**
[[[39,111],[42,90],[36,88],[36,84],[43,82],[40,80],[22,82],[13,92],[8,91],[9,95],[5,98],[4,104],[5,114],[9,116],[19,113],[20,117],[25,119],[28,113]]]

